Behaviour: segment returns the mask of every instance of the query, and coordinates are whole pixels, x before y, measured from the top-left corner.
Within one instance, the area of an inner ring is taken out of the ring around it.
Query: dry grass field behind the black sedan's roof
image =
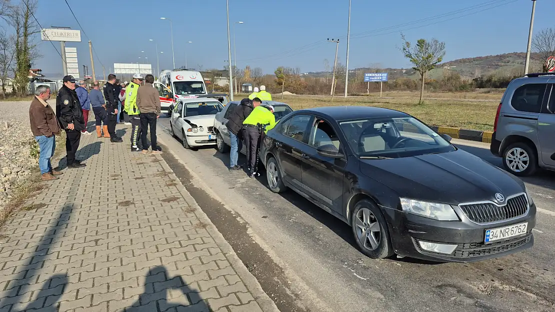
[[[281,101],[281,96],[274,100]],[[499,95],[501,98],[501,95]],[[292,109],[306,109],[321,106],[359,105],[376,106],[407,112],[433,126],[460,127],[491,131],[497,110],[497,101],[479,100],[426,100],[418,104],[417,99],[384,99],[372,97],[335,97],[332,103],[329,96],[285,95],[284,102]]]

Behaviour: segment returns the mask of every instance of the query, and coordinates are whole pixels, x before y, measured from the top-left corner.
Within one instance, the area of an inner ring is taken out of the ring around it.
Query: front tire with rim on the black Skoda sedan
[[[351,223],[356,244],[359,245],[362,253],[372,259],[393,255],[387,222],[374,202],[370,200],[357,202],[352,212]]]

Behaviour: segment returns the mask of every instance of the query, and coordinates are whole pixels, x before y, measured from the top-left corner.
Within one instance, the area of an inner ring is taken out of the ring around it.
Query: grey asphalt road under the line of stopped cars
[[[349,226],[303,197],[271,192],[265,176],[229,172],[229,154],[185,150],[167,130],[159,137],[176,175],[187,176],[191,195],[284,312],[555,311],[555,173],[524,179],[538,207],[531,249],[470,264],[373,260],[357,250]],[[501,166],[488,145],[453,142]]]

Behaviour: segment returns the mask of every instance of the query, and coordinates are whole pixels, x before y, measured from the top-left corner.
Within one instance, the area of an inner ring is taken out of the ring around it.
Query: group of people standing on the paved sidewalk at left
[[[51,158],[56,149],[56,136],[65,131],[65,151],[67,153],[67,167],[80,168],[86,166],[75,158],[81,135],[90,135],[87,122],[90,109],[95,116],[97,137],[109,138],[110,142],[123,142],[115,133],[116,124],[120,121],[122,106],[126,124],[132,125],[130,136],[131,150],[148,154],[147,135],[150,128],[151,154],[162,154],[157,145],[156,124],[160,116],[160,98],[153,87],[154,76],[142,74],[133,75],[132,83],[127,86],[119,85],[114,74],[108,75],[108,81],[99,90],[100,84],[94,81],[93,89],[87,91],[85,81],[78,81],[71,75],[64,76],[63,86],[56,97],[56,114],[48,104],[51,89],[47,85],[40,85],[35,89],[35,97],[29,107],[29,121],[31,131],[38,142],[39,168],[41,179],[56,180],[62,174],[53,170]],[[140,137],[140,141],[138,138]]]

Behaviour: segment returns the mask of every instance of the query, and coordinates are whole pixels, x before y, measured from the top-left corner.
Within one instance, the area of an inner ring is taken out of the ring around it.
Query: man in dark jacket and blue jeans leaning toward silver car
[[[229,170],[241,170],[241,166],[237,165],[239,151],[241,150],[241,129],[243,121],[253,111],[253,101],[249,99],[241,100],[241,104],[235,106],[225,124],[228,127],[229,139],[231,140],[231,151],[229,153]]]

